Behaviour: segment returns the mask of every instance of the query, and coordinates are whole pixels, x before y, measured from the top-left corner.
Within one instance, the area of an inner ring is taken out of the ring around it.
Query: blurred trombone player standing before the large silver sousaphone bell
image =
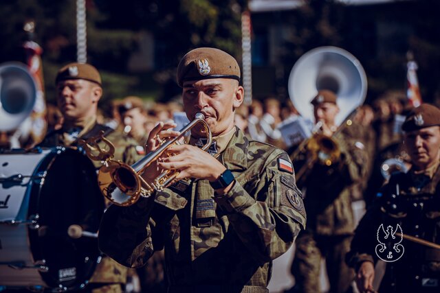
[[[320,292],[317,280],[322,258],[327,264],[329,292],[346,292],[354,277],[353,270],[344,262],[355,225],[349,187],[364,172],[364,152],[353,147],[355,142],[346,129],[341,131],[336,126],[340,110],[336,101],[336,94],[329,90],[318,91],[311,100],[315,120],[321,124],[320,133],[311,137],[307,147],[292,158],[297,172],[306,169],[298,178],[298,187],[304,194],[308,218],[307,229],[301,231],[296,241],[293,292]]]

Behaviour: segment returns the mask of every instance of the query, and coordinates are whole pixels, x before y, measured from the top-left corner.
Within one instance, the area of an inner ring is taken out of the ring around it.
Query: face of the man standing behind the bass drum
[[[87,80],[63,80],[56,84],[56,102],[67,120],[95,115],[101,95],[101,87]]]

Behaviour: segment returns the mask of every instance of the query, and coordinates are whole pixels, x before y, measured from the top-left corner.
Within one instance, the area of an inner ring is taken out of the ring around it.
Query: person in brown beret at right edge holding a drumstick
[[[440,292],[440,109],[421,104],[402,130],[412,166],[382,187],[347,255],[360,292],[377,290],[384,263],[379,292]]]

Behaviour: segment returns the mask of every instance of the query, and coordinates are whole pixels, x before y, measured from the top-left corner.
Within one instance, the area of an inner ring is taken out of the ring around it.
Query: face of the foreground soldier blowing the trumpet
[[[243,87],[227,78],[184,82],[184,110],[190,121],[197,112],[205,115],[213,136],[234,127],[234,109],[243,102]],[[192,128],[192,135],[203,137],[203,127]]]

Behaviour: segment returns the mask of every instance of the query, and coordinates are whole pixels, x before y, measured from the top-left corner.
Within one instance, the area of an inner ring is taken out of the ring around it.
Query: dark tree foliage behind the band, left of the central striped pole
[[[104,99],[140,95],[169,99],[179,93],[175,69],[195,47],[241,52],[241,10],[245,0],[88,0],[87,62],[102,73]],[[76,60],[76,1],[3,0],[0,10],[0,62],[24,61],[21,44],[26,19],[36,22],[35,40],[43,47],[47,99],[54,100],[56,71]],[[141,32],[155,42],[155,70],[130,73],[127,64],[139,50]]]

